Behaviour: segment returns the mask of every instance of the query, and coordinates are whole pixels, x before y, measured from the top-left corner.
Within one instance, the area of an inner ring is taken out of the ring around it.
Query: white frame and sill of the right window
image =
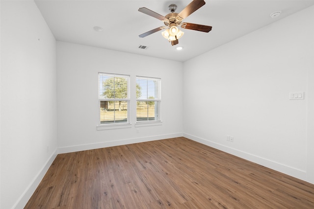
[[[149,93],[145,93],[145,95],[144,95],[144,96],[146,96],[145,98],[143,98],[143,95],[141,95],[140,98],[136,98],[136,123],[135,123],[135,127],[149,126],[149,125],[161,125],[161,122],[162,122],[161,121],[161,78],[136,76],[136,86],[140,85],[139,80],[157,82],[157,87],[155,86],[155,89],[154,89],[154,94],[155,94],[154,99],[149,98],[150,97]],[[143,83],[141,83],[141,85],[143,85]],[[149,91],[148,84],[146,85],[146,90]],[[154,101],[155,104],[157,104],[157,106],[155,106],[155,119],[150,120],[148,113],[147,113],[147,120],[143,120],[143,119],[137,120],[137,104],[138,104],[138,102],[150,102],[150,101]]]

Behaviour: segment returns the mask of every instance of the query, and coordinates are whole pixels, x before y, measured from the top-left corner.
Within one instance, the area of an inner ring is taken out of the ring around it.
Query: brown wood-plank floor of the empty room
[[[59,154],[26,209],[314,209],[314,185],[186,139]]]

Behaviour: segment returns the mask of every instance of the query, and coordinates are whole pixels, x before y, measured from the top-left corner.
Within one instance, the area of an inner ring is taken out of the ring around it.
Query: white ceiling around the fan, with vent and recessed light
[[[191,0],[35,0],[58,41],[96,46],[184,62],[226,44],[267,24],[306,7],[314,0],[205,0],[206,4],[183,22],[212,26],[209,33],[182,29],[176,50],[158,31],[145,38],[138,35],[164,25],[141,13],[139,7],[165,16],[168,6],[177,4],[177,13]],[[277,18],[270,14],[281,11]],[[300,23],[302,24],[302,23]],[[104,28],[97,32],[94,26]],[[293,25],[291,25],[293,30]],[[139,49],[139,45],[147,49]]]

